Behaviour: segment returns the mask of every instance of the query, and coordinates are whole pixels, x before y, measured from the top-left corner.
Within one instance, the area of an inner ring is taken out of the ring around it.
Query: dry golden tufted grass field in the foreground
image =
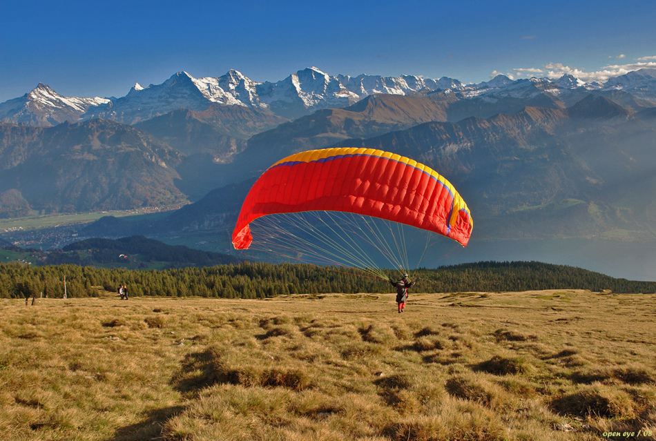
[[[0,300],[1,440],[654,440],[656,297]]]

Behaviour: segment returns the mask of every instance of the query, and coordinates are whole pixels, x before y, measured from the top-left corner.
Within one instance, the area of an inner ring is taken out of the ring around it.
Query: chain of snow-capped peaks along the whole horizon
[[[490,81],[469,85],[448,77],[332,76],[314,66],[298,70],[280,81],[264,83],[253,81],[235,69],[228,70],[221,77],[202,78],[182,71],[162,84],[150,84],[144,88],[135,83],[125,97],[111,99],[64,97],[46,84],[39,83],[23,97],[1,103],[0,121],[49,126],[67,119],[77,121],[103,117],[134,124],[181,108],[205,110],[212,104],[246,106],[296,119],[322,108],[349,106],[372,94],[425,94],[436,90],[457,91],[464,99],[543,99],[543,95],[550,95],[550,99],[563,102],[580,99],[581,92],[585,90],[626,90],[656,104],[656,70],[629,72],[609,79],[605,84],[586,84],[572,75],[563,75],[559,79],[518,80],[497,75]]]

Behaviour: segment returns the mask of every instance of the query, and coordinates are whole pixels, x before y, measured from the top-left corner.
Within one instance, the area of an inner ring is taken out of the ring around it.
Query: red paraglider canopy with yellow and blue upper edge
[[[423,164],[367,148],[296,153],[273,164],[253,185],[232,235],[249,248],[249,224],[274,213],[346,211],[434,231],[467,245],[467,204],[444,177]]]

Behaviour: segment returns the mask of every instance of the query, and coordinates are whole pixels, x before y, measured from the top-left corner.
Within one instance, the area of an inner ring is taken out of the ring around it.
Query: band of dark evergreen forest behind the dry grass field
[[[389,271],[396,278],[398,272]],[[204,268],[162,271],[93,268],[90,266],[21,266],[0,264],[0,297],[93,297],[99,288],[117,292],[125,284],[131,297],[264,298],[286,294],[389,293],[389,282],[356,270],[307,264],[243,262]],[[615,279],[572,266],[540,262],[479,262],[414,271],[414,291],[528,291],[541,289],[610,290],[656,293],[656,282]]]

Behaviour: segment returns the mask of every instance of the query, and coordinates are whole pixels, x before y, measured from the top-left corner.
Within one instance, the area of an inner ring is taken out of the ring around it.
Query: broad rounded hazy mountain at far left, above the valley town
[[[175,204],[184,200],[173,184],[181,159],[151,135],[104,119],[51,128],[0,124],[2,210]]]

